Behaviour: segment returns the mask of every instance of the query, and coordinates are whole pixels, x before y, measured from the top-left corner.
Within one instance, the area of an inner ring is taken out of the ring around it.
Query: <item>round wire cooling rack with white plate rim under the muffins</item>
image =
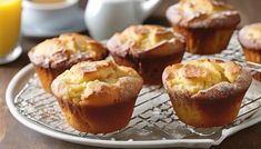
[[[227,50],[204,56],[238,61],[244,67],[235,33]],[[202,58],[185,53],[183,61]],[[249,68],[252,73],[260,64]],[[71,128],[62,116],[56,99],[44,92],[31,64],[22,69],[10,82],[7,103],[11,113],[27,127],[41,133],[83,145],[114,148],[201,147],[219,145],[228,136],[261,121],[261,82],[253,81],[244,97],[239,116],[233,123],[209,129],[192,128],[175,116],[162,86],[144,86],[137,99],[129,125],[112,133],[86,133]]]

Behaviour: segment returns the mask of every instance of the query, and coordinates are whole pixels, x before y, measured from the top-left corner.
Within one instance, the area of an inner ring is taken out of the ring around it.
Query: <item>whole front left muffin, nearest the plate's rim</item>
[[[84,132],[107,133],[130,121],[142,78],[134,69],[112,61],[80,62],[58,76],[51,88],[69,125]]]

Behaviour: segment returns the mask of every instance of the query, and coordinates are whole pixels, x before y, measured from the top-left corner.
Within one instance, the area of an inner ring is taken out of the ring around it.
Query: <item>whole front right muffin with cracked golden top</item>
[[[200,59],[169,66],[162,80],[180,120],[207,128],[235,119],[252,77],[235,62]]]

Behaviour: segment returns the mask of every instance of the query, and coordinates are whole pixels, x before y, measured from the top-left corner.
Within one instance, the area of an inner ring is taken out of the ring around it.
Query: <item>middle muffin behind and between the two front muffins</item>
[[[134,68],[145,83],[161,83],[164,68],[182,60],[185,46],[171,30],[147,24],[116,33],[107,47],[118,64]]]

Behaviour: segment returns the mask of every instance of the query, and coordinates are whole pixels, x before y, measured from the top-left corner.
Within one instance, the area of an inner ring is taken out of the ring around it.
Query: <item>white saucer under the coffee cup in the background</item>
[[[52,30],[43,30],[40,28],[31,28],[27,26],[22,26],[22,34],[26,37],[34,37],[34,38],[48,38],[48,37],[56,37],[64,32],[80,32],[84,31],[86,24],[84,24],[84,18],[83,18],[83,11],[79,10],[78,16],[74,18],[76,20],[72,21],[71,26],[64,27],[58,27]]]

